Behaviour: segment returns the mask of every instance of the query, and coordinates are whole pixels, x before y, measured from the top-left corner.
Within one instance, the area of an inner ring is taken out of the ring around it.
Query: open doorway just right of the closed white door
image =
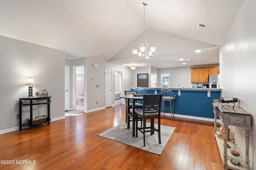
[[[122,104],[122,99],[119,97],[123,94],[123,72],[115,71],[115,105]]]

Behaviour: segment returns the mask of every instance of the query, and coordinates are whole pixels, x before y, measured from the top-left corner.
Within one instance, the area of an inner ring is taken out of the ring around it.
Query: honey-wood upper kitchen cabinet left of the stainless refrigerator
[[[192,83],[208,83],[208,67],[196,67],[190,69]]]

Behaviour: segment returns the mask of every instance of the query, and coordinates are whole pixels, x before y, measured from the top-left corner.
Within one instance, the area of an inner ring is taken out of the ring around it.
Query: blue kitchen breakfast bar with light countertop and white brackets
[[[161,88],[145,88],[145,91],[160,94]],[[212,101],[221,97],[221,88],[172,88],[172,92],[176,93],[174,116],[214,121]]]

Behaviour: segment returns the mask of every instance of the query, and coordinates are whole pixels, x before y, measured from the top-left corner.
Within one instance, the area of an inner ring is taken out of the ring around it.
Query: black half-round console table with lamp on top
[[[39,100],[39,102],[38,102]],[[41,102],[41,100],[44,100]],[[45,102],[47,100],[47,102]],[[24,102],[22,102],[24,101]],[[29,101],[29,103],[26,103],[26,101]],[[33,103],[33,101],[37,101],[36,103]],[[22,129],[23,126],[29,126],[30,130],[32,130],[33,125],[38,125],[38,124],[43,124],[43,123],[48,123],[50,125],[50,103],[51,103],[51,96],[46,96],[46,97],[39,97],[39,98],[20,98],[19,102],[19,116],[20,116],[20,129]],[[47,118],[46,121],[33,124],[33,106],[34,105],[42,105],[42,104],[47,104]],[[30,121],[27,124],[22,125],[22,106],[30,106]]]

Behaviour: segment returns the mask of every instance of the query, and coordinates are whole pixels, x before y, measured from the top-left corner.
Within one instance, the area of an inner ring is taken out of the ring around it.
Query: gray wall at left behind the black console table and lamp
[[[0,59],[0,133],[18,128],[18,102],[19,98],[28,96],[25,84],[29,77],[34,78],[36,84],[33,96],[38,89],[47,89],[52,96],[51,119],[64,117],[63,51],[0,36]],[[22,110],[22,121],[27,122],[29,109],[23,106]],[[46,114],[38,112],[34,110],[35,114]]]

